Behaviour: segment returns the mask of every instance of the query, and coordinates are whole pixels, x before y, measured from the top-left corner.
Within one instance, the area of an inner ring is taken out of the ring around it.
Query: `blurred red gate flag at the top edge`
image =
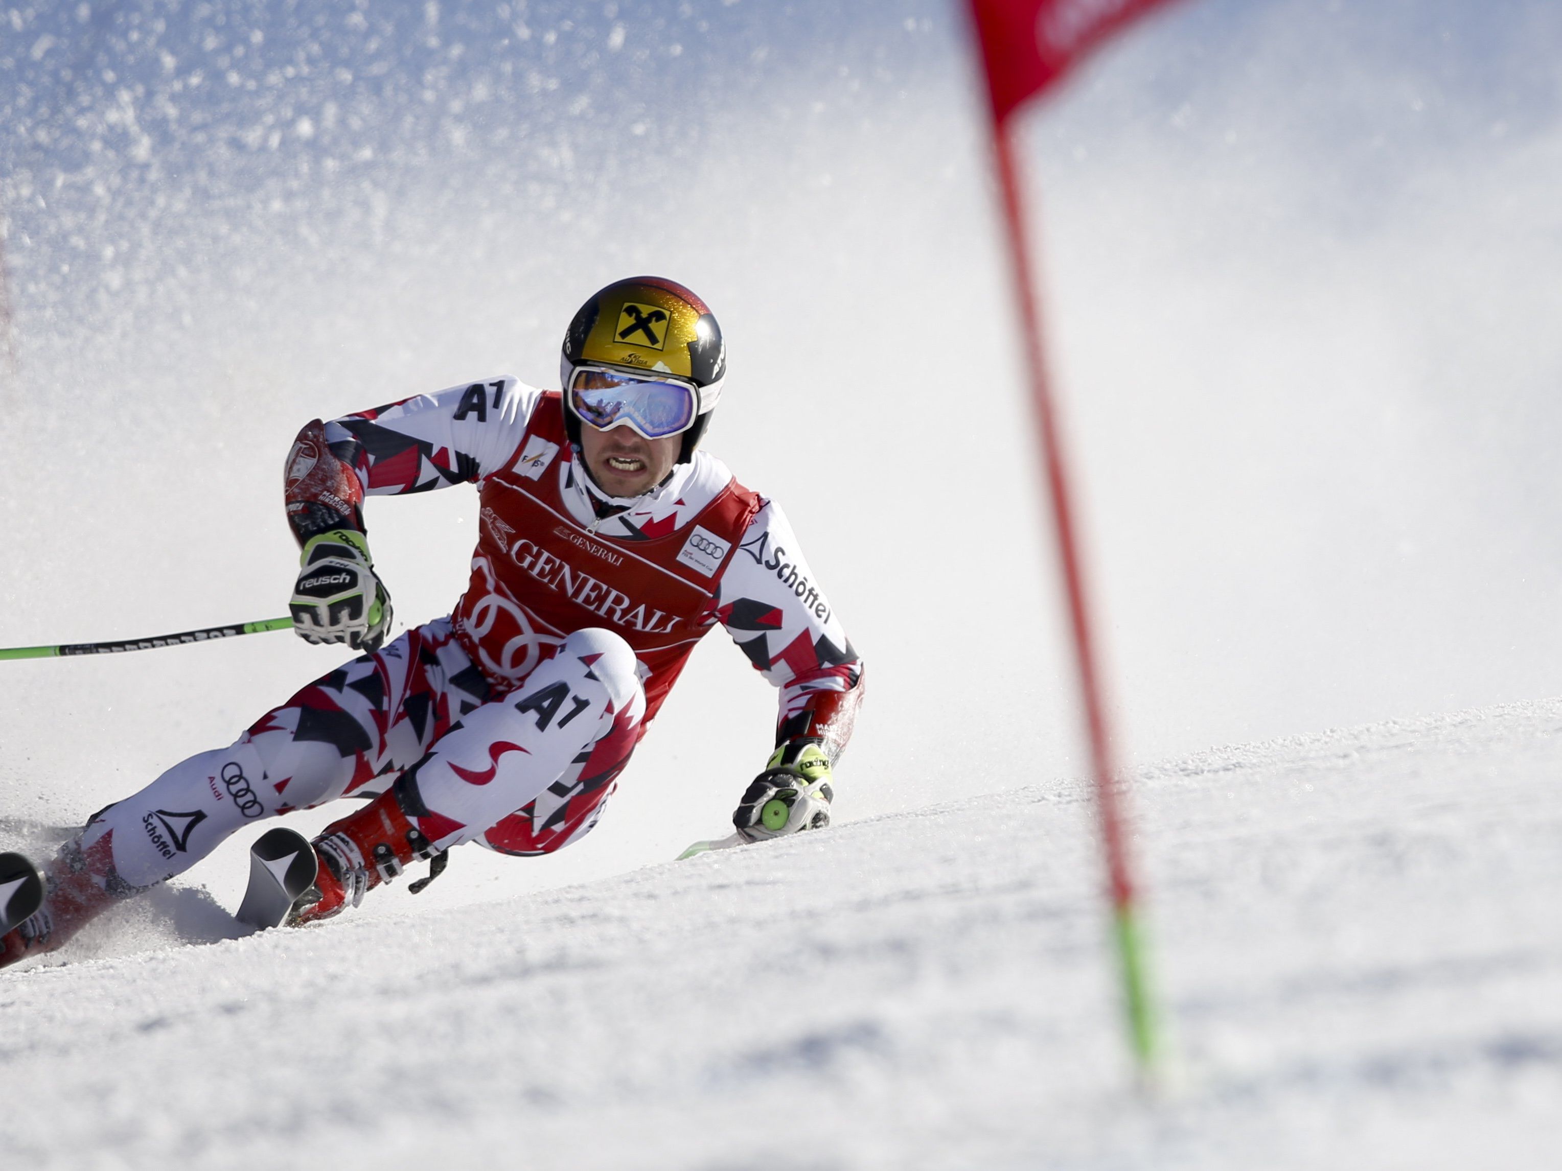
[[[993,122],[1040,94],[1122,25],[1167,0],[970,0]]]

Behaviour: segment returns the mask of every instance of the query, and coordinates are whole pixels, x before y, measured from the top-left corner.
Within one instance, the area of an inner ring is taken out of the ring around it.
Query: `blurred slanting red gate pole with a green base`
[[[1079,540],[1073,515],[1073,493],[1068,479],[1068,461],[1059,434],[1057,408],[1053,401],[1051,381],[1042,351],[1040,314],[1037,311],[1036,283],[1031,272],[1031,253],[1025,231],[1025,200],[1018,167],[1014,158],[1011,120],[993,120],[993,156],[998,166],[998,183],[1003,190],[1003,212],[1009,230],[1009,258],[1015,297],[1020,306],[1022,331],[1025,334],[1025,364],[1031,384],[1031,408],[1036,420],[1036,437],[1042,450],[1047,495],[1053,506],[1053,532],[1057,540],[1057,557],[1068,595],[1068,618],[1073,628],[1075,665],[1079,673],[1079,693],[1084,701],[1086,731],[1090,740],[1090,771],[1095,781],[1097,810],[1101,823],[1101,845],[1106,854],[1107,893],[1112,902],[1112,937],[1123,979],[1123,998],[1128,1010],[1128,1034],[1142,1073],[1150,1074],[1159,1054],[1156,1020],[1145,974],[1143,937],[1139,924],[1139,907],[1134,898],[1132,859],[1125,832],[1126,815],[1115,788],[1117,762],[1112,749],[1112,731],[1103,696],[1101,668],[1097,657],[1095,634],[1090,623],[1090,595],[1086,589],[1081,565]]]

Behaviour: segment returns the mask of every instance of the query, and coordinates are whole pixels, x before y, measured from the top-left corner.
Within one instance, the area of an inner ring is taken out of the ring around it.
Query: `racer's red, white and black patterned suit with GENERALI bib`
[[[779,689],[776,745],[814,742],[831,760],[845,748],[861,662],[781,509],[703,451],[642,497],[604,497],[559,395],[495,378],[309,423],[287,459],[287,517],[300,542],[364,531],[367,495],[467,482],[480,540],[451,615],[97,813],[75,868],[131,893],[251,821],[392,784],[436,849],[555,851],[595,824],[717,623]]]

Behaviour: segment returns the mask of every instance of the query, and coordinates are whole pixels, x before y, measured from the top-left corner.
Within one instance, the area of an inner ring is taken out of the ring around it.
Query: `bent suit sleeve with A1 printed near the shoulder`
[[[503,470],[542,390],[514,378],[308,423],[287,456],[287,521],[303,543],[334,528],[364,531],[364,497],[430,492]]]

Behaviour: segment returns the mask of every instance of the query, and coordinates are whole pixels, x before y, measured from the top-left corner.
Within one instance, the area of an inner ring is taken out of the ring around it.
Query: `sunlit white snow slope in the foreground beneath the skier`
[[[1562,1141],[1559,732],[1545,701],[1142,770],[1179,1052],[1156,1101],[1125,1068],[1089,803],[1053,781],[439,913],[403,884],[300,932],[223,938],[209,896],[166,892],[173,935],[208,946],[144,910],[87,940],[95,959],[0,976],[5,1149],[48,1168],[1532,1163]]]

